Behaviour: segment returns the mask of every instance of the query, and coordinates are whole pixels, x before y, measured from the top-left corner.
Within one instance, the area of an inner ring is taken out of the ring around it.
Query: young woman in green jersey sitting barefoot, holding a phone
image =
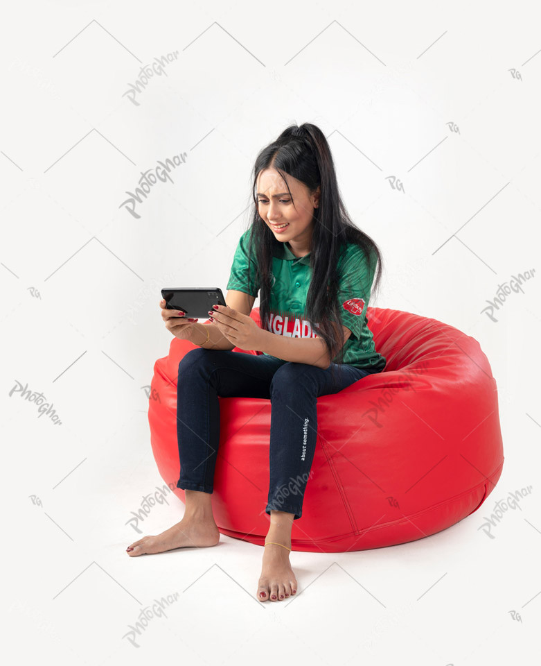
[[[227,305],[216,306],[210,322],[199,324],[181,320],[184,313],[160,302],[168,330],[198,345],[181,360],[177,384],[177,487],[185,490],[186,511],[179,523],[135,541],[127,552],[219,542],[211,505],[218,396],[267,398],[270,519],[256,596],[276,601],[297,590],[289,561],[291,529],[302,515],[314,457],[317,398],[385,367],[366,320],[376,265],[375,289],[382,268],[378,246],[346,213],[330,148],[317,126],[291,126],[260,152],[253,196],[251,226],[233,258]],[[262,327],[249,316],[258,292]],[[240,354],[235,347],[263,353]],[[284,499],[281,489],[291,479],[298,492]]]

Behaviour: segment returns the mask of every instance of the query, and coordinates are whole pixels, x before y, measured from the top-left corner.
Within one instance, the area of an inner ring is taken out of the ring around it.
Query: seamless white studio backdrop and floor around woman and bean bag
[[[0,25],[10,663],[538,663],[540,275],[497,322],[482,312],[500,284],[539,269],[536,3],[10,5]],[[124,93],[141,67],[175,51],[132,103]],[[125,548],[184,511],[170,494],[143,533],[128,522],[163,486],[147,419],[154,361],[171,339],[159,289],[225,289],[256,154],[305,121],[328,137],[348,211],[382,248],[371,305],[481,344],[506,461],[486,504],[454,527],[372,551],[293,552],[296,598],[261,604],[258,546],[222,536],[150,557]],[[134,218],[126,191],[181,153],[174,182],[154,185]],[[62,425],[9,395],[20,385],[44,393]],[[484,515],[526,486],[488,538]],[[142,607],[175,592],[139,648],[123,638]]]

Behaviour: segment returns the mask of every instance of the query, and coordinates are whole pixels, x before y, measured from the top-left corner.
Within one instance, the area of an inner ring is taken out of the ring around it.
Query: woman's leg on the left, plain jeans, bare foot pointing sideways
[[[218,395],[269,398],[276,368],[285,361],[266,355],[195,348],[179,363],[177,438],[181,463],[178,488],[186,493],[182,520],[157,536],[128,547],[130,556],[184,546],[213,546],[220,540],[211,504],[220,439]]]

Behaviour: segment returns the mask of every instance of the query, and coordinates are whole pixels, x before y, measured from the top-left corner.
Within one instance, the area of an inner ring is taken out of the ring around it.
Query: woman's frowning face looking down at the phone
[[[295,246],[310,247],[314,208],[319,205],[319,187],[310,195],[308,187],[293,176],[287,176],[292,198],[276,169],[265,169],[256,181],[258,212],[278,241],[293,241]],[[283,230],[278,225],[287,224]]]

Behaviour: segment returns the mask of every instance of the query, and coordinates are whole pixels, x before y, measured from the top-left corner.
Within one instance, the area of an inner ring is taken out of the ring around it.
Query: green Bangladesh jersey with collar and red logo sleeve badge
[[[257,298],[260,284],[254,254],[248,274],[249,234],[248,229],[238,241],[227,289],[243,291]],[[337,299],[342,307],[342,323],[351,330],[343,348],[343,363],[380,373],[387,359],[376,352],[366,318],[375,266],[370,268],[362,249],[349,243],[339,257],[337,269],[340,276]],[[276,247],[272,257],[269,304],[273,333],[294,338],[317,337],[317,330],[314,331],[310,322],[303,318],[311,276],[310,253],[296,257],[286,243]]]

